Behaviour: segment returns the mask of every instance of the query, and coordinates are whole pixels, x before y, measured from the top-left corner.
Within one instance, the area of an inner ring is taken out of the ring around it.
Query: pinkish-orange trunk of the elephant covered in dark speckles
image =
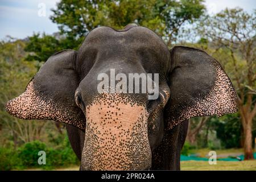
[[[151,167],[147,111],[127,98],[108,95],[86,107],[82,168],[131,170]],[[113,102],[111,102],[113,101]]]

